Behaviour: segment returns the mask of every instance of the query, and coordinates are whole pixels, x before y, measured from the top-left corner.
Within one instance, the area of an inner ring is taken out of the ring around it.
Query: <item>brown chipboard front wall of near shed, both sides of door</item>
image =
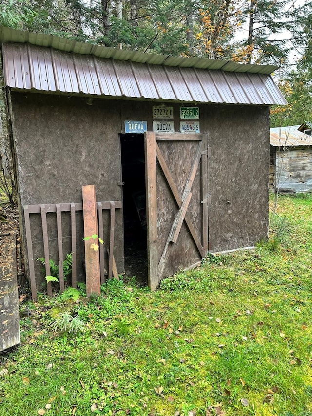
[[[81,202],[81,187],[87,184],[96,185],[98,201],[122,199],[117,185],[121,180],[118,134],[124,132],[124,120],[146,120],[148,130],[153,130],[152,105],[159,103],[94,99],[92,104],[82,97],[11,93],[22,206]],[[170,105],[178,131],[181,104]],[[199,108],[200,131],[208,133],[211,148],[211,250],[254,245],[268,230],[269,109],[211,104]],[[118,271],[124,267],[120,211],[115,236]],[[69,243],[70,232],[66,236]],[[39,232],[36,238],[34,256],[39,257]]]

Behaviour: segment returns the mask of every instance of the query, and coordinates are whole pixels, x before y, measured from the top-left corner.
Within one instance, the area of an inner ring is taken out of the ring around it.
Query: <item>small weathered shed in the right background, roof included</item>
[[[273,192],[312,191],[312,136],[306,124],[270,129],[270,178]]]

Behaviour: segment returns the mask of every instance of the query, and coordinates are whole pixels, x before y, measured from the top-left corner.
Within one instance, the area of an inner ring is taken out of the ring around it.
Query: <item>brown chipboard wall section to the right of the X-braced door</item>
[[[212,251],[253,246],[268,233],[269,108],[206,107]]]

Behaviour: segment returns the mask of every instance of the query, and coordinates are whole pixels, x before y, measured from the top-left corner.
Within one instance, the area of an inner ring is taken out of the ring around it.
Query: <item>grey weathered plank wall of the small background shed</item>
[[[281,192],[311,192],[312,148],[290,147],[276,152],[275,180]]]

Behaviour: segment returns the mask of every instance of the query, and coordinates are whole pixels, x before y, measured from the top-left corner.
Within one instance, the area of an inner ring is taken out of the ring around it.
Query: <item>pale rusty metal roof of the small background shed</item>
[[[270,129],[270,144],[278,146],[312,146],[312,136],[298,130],[298,126],[274,127]]]

